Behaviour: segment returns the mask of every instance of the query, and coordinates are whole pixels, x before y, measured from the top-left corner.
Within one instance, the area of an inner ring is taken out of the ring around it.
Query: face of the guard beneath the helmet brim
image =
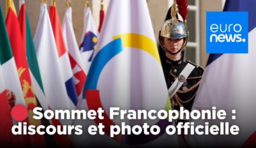
[[[174,38],[164,37],[163,41],[164,41],[164,47],[166,48],[166,50],[168,50],[168,52],[171,52],[171,53],[178,52],[184,43],[183,38],[174,39]]]

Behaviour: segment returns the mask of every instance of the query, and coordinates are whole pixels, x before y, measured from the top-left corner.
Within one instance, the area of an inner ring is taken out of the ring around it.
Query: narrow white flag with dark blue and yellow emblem
[[[90,65],[94,57],[94,50],[96,49],[98,40],[97,34],[98,33],[92,19],[92,11],[90,7],[86,7],[84,8],[84,30],[81,38],[81,44],[79,46],[86,74],[90,69]]]

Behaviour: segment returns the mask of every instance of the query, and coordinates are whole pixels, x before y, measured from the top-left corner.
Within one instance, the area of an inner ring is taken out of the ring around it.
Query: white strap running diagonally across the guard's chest
[[[187,63],[183,71],[181,71],[180,75],[175,79],[174,83],[172,83],[172,85],[168,89],[168,94],[170,98],[172,98],[174,94],[176,94],[176,92],[179,90],[181,85],[183,85],[185,79],[189,77],[190,73],[193,71],[194,68],[194,65]]]

